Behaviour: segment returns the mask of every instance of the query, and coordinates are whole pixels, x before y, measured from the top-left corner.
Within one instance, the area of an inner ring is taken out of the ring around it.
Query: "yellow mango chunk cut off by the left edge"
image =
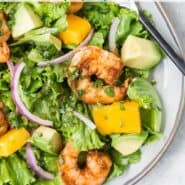
[[[25,128],[11,129],[0,137],[0,156],[7,157],[15,153],[26,144],[28,138],[30,134]]]

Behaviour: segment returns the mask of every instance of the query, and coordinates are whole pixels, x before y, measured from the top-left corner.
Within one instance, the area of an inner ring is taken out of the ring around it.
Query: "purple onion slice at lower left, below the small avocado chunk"
[[[35,154],[28,143],[26,146],[26,160],[29,167],[35,172],[35,174],[43,179],[52,180],[54,179],[54,175],[42,169],[37,165],[37,160]]]

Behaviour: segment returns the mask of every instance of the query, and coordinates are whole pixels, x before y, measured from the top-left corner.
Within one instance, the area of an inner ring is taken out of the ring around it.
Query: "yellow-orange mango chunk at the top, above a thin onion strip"
[[[79,16],[70,14],[67,16],[68,28],[60,33],[60,39],[65,44],[80,44],[91,30],[90,23]]]

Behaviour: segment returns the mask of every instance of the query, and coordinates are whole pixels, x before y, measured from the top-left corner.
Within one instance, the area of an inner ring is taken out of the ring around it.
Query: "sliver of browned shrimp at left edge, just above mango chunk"
[[[3,112],[3,104],[0,102],[0,136],[6,133],[8,130],[8,122]]]

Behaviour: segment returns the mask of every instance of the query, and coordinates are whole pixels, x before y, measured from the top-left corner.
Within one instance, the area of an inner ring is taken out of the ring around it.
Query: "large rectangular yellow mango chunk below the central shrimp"
[[[92,115],[98,131],[103,135],[141,132],[139,104],[135,101],[95,106]]]

